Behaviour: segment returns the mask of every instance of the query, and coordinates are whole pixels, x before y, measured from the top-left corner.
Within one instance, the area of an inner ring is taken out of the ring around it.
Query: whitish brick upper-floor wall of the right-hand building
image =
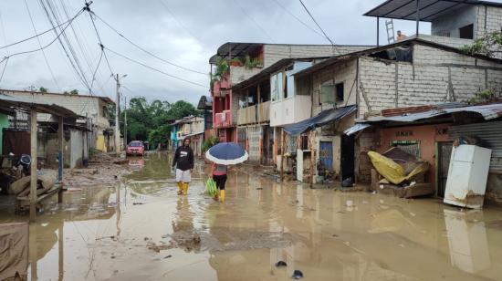
[[[361,57],[361,85],[371,110],[466,101],[502,86],[502,66],[491,61],[417,45],[413,60],[412,65]],[[369,111],[362,90],[360,114]]]

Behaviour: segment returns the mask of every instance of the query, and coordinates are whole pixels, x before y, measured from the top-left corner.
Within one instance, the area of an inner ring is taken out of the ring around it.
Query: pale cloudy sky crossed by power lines
[[[375,19],[361,16],[383,0],[304,0],[310,12],[336,44],[371,45],[375,43]],[[68,20],[78,13],[83,0],[2,0],[0,1],[1,29],[0,46],[5,46],[37,33],[50,26],[41,3]],[[282,7],[284,6],[286,10]],[[133,43],[164,60],[202,73],[209,72],[208,59],[217,47],[225,42],[267,42],[289,44],[327,44],[327,40],[300,24],[288,12],[298,16],[312,28],[314,23],[297,0],[94,0],[91,9],[97,16],[116,28]],[[288,10],[288,12],[287,12]],[[51,13],[51,11],[48,11]],[[67,16],[68,13],[68,16]],[[196,102],[208,93],[208,76],[173,67],[151,57],[132,46],[96,19],[99,36],[105,47],[139,61],[165,74],[144,68],[123,57],[106,51],[113,73],[127,74],[121,82],[126,87],[122,93],[129,99],[144,96],[149,100],[175,101],[185,99]],[[71,28],[72,27],[72,28]],[[67,29],[68,41],[78,57],[81,72],[92,80],[100,57],[99,39],[92,27],[88,13],[78,16]],[[381,24],[381,34],[385,30]],[[394,21],[395,29],[404,34],[413,34],[413,22]],[[421,33],[430,33],[430,26],[423,25]],[[49,32],[39,36],[42,46],[50,43],[56,35]],[[63,37],[61,37],[64,40]],[[383,42],[382,38],[382,42]],[[66,44],[66,43],[65,43]],[[37,39],[16,46],[0,49],[0,56],[39,48]],[[68,53],[71,50],[65,45]],[[25,89],[41,86],[50,91],[77,88],[81,93],[89,90],[78,79],[68,57],[58,41],[31,54],[10,57],[0,64],[0,88]],[[47,66],[48,63],[48,66]],[[51,69],[53,75],[51,75]],[[205,88],[171,78],[168,75],[189,80]],[[97,95],[114,97],[114,80],[110,78],[104,57],[101,58],[93,85]]]

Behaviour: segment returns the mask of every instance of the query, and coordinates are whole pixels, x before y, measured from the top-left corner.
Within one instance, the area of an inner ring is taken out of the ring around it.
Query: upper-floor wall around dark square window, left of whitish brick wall
[[[354,80],[357,75],[357,59],[354,58],[346,63],[325,68],[313,76],[312,81],[312,116],[319,114],[322,110],[331,109],[333,106],[329,104],[320,104],[320,87],[321,84],[334,78],[335,84],[343,82],[344,100],[337,106],[345,106],[356,104],[357,102],[357,83]],[[352,87],[353,85],[353,87]],[[350,92],[351,90],[351,92]]]

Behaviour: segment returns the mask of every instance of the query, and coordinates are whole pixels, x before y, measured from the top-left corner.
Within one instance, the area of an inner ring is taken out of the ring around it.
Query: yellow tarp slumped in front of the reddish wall
[[[405,174],[403,166],[380,153],[370,151],[368,152],[368,156],[370,156],[371,163],[375,167],[376,171],[379,172],[387,181],[392,182],[393,184],[400,184],[404,181],[409,181],[415,175],[429,170],[429,163],[419,161],[416,162],[416,165],[411,172]]]

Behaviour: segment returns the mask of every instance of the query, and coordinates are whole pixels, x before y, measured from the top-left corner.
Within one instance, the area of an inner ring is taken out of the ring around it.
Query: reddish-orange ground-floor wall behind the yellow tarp
[[[391,141],[394,140],[419,140],[420,155],[424,161],[431,164],[428,172],[429,182],[435,186],[435,142],[448,141],[447,129],[449,124],[424,125],[424,126],[404,126],[397,128],[385,128],[380,130],[380,146],[377,152],[383,153],[391,148]],[[404,134],[410,134],[403,136]]]

